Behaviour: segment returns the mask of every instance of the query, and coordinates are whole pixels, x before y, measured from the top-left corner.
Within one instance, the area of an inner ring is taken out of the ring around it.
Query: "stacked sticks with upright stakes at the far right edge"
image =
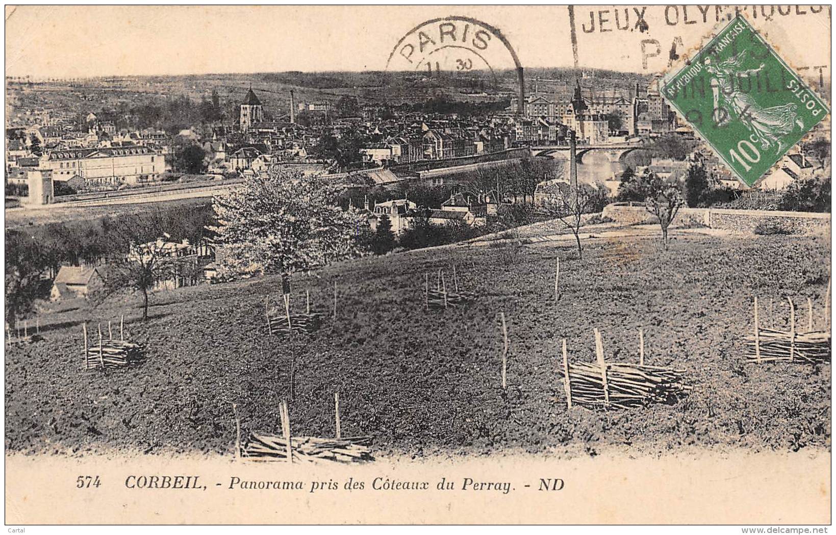
[[[828,295],[825,301],[825,321],[829,327],[829,298],[830,285],[828,283]],[[754,334],[748,334],[743,339],[747,343],[747,359],[749,362],[774,362],[786,360],[789,362],[798,361],[808,364],[817,362],[828,362],[830,360],[830,331],[813,330],[813,304],[810,298],[808,302],[807,331],[799,333],[795,320],[795,305],[791,298],[789,303],[789,330],[767,329],[760,324],[757,297],[755,298],[755,329]],[[772,308],[772,303],[770,303]]]

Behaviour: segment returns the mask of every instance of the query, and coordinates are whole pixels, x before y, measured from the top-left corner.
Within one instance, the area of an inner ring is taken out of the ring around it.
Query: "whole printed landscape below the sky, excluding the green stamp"
[[[750,188],[660,74],[518,74],[7,76],[7,451],[829,448],[829,116]]]

